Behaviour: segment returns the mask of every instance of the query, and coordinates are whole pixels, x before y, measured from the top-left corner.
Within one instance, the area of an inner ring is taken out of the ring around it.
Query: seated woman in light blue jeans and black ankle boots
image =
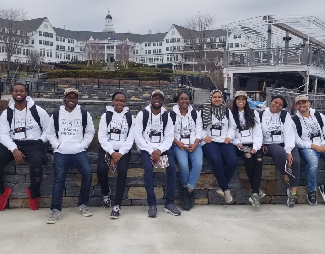
[[[193,189],[200,177],[203,163],[200,145],[202,119],[200,113],[190,105],[190,100],[191,96],[188,92],[178,93],[174,98],[177,105],[169,113],[174,122],[175,133],[172,149],[179,164],[179,175],[184,187],[179,199],[187,211],[195,205]],[[189,171],[188,159],[192,164],[191,171]]]

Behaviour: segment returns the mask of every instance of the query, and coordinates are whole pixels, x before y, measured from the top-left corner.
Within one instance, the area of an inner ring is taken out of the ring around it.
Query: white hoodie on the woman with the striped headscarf
[[[224,115],[222,121],[219,121],[218,118],[212,112],[211,114],[212,114],[212,124],[220,125],[222,122],[221,136],[212,136],[210,130],[212,125],[209,124],[206,127],[206,129],[203,130],[202,132],[202,139],[200,142],[201,146],[205,144],[204,138],[206,136],[209,136],[212,139],[212,141],[219,142],[219,143],[223,143],[226,137],[228,137],[230,140],[234,139],[236,137],[236,123],[234,117],[232,116],[231,111],[229,110],[229,120],[227,119],[226,114]]]

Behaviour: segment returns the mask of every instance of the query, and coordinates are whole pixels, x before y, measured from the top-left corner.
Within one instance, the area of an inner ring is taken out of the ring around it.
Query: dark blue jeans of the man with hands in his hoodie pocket
[[[85,151],[76,154],[55,153],[54,157],[54,184],[52,189],[51,210],[61,211],[63,188],[70,166],[75,166],[81,173],[81,188],[78,206],[87,204],[91,187],[92,170],[90,161]]]

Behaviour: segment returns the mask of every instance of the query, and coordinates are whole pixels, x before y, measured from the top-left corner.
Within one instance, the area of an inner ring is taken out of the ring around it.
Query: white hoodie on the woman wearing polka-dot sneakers
[[[114,150],[119,150],[119,153],[124,155],[132,148],[134,142],[134,125],[136,119],[132,115],[132,125],[130,127],[129,135],[127,132],[129,126],[127,125],[125,113],[129,110],[128,107],[124,107],[123,111],[119,114],[114,111],[114,107],[106,106],[106,111],[112,112],[112,121],[107,127],[106,123],[106,113],[104,113],[100,118],[99,128],[98,128],[98,141],[104,151],[107,151],[109,154],[112,154]],[[123,123],[122,123],[123,120]],[[110,140],[110,129],[121,129],[120,140]]]

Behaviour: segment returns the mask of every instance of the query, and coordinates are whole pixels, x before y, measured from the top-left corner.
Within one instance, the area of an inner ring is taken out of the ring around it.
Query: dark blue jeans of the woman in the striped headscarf
[[[223,191],[228,189],[228,183],[237,168],[237,151],[234,144],[211,142],[202,146],[204,156],[210,161],[215,179]],[[223,166],[222,159],[227,164]]]

